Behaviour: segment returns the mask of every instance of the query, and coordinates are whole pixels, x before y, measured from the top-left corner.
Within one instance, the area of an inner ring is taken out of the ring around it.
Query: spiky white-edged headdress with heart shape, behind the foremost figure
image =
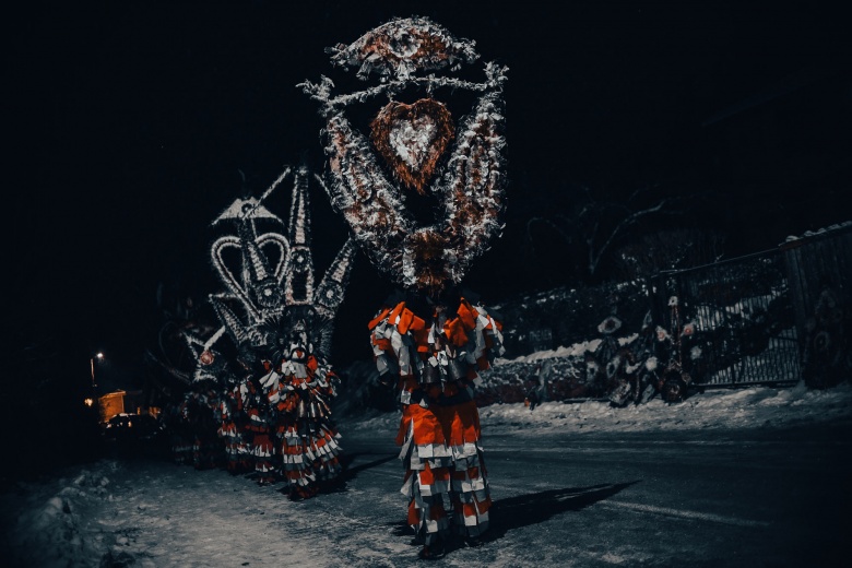
[[[263,202],[288,177],[293,197],[285,227]],[[308,179],[306,167],[288,167],[260,199],[239,198],[211,223],[227,230],[210,249],[226,291],[210,296],[218,331],[206,341],[187,338],[199,362],[197,378],[210,378],[203,367],[214,364],[213,344],[225,333],[244,363],[275,357],[294,333],[306,335],[320,358],[329,357],[356,248],[348,239],[315,287]]]

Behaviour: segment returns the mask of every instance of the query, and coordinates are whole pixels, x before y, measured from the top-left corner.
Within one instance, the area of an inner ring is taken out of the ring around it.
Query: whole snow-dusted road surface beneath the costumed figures
[[[852,422],[484,431],[483,546],[433,563],[404,525],[390,431],[344,429],[345,483],[294,502],[221,470],[114,457],[3,495],[7,566],[850,566]],[[39,493],[40,492],[40,493]],[[11,517],[12,519],[10,519]]]

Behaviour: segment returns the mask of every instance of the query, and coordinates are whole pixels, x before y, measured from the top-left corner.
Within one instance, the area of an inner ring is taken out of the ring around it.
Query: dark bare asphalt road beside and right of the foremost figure
[[[484,433],[485,544],[447,566],[852,566],[852,424],[795,429],[521,436]],[[390,438],[345,437],[339,513],[405,539]],[[348,513],[345,508],[351,504]]]

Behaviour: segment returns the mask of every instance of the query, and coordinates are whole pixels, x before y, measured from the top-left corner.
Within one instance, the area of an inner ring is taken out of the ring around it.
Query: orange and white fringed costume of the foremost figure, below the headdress
[[[480,536],[492,500],[473,390],[504,351],[500,324],[461,298],[454,312],[439,307],[428,319],[401,301],[369,327],[379,371],[398,375],[409,524],[427,545],[450,529]]]

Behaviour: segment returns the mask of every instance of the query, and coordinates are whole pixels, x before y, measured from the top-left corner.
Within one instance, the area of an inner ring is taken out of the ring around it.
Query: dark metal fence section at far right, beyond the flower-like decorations
[[[827,372],[814,370],[815,362],[842,374],[850,366],[843,331],[849,327],[843,322],[849,320],[850,277],[848,224],[778,249],[663,272],[652,281],[652,313],[656,321],[667,321],[670,300],[678,298],[679,319],[693,323],[690,343],[701,350],[694,378],[706,386],[792,382],[808,379],[809,371]],[[820,309],[833,311],[820,319]],[[826,319],[839,321],[829,330],[830,341],[828,332],[815,332],[826,328]],[[826,341],[831,353],[825,353]]]

